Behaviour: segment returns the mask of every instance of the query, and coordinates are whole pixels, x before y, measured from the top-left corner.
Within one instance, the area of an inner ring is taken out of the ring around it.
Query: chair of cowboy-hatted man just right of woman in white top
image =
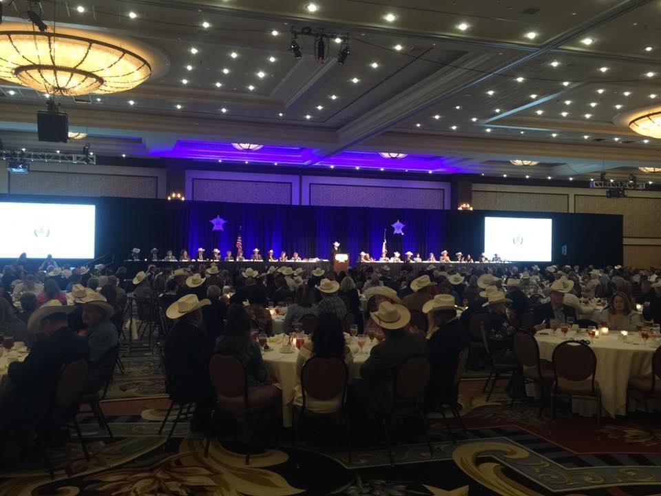
[[[429,375],[430,364],[425,356],[413,355],[407,358],[395,373],[392,387],[392,407],[390,411],[386,413],[375,411],[381,417],[381,422],[384,424],[386,445],[388,446],[388,457],[390,457],[391,466],[395,466],[392,458],[390,435],[388,434],[388,424],[392,420],[395,420],[399,424],[399,420],[419,417],[425,429],[429,454],[431,457],[434,457],[434,448],[432,448],[432,443],[429,439],[429,426],[423,412],[424,395],[429,382]]]

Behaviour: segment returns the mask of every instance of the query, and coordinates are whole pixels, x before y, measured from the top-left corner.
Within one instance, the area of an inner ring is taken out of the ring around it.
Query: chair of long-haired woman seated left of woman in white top
[[[211,422],[207,430],[207,443],[204,446],[204,457],[209,455],[209,444],[211,444],[211,431],[218,422],[220,413],[229,413],[235,418],[242,417],[246,431],[249,422],[253,421],[253,430],[249,435],[248,450],[246,451],[245,463],[250,463],[250,455],[255,441],[257,428],[262,424],[262,417],[268,410],[277,411],[279,396],[271,395],[265,397],[258,389],[248,387],[248,378],[243,364],[233,355],[215,353],[209,360],[209,377],[216,391],[216,404],[211,412]],[[275,391],[277,388],[273,386]],[[262,390],[263,391],[263,390]],[[273,415],[277,422],[276,437],[280,433],[280,424],[277,415]]]

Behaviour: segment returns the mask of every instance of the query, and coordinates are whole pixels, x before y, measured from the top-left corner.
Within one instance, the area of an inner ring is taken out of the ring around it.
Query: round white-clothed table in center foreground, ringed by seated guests
[[[269,347],[272,349],[263,352],[262,358],[264,359],[266,370],[269,371],[269,377],[275,382],[278,382],[282,388],[282,425],[291,427],[293,420],[294,388],[298,384],[298,377],[296,375],[298,350],[293,348],[293,353],[281,353],[282,336],[280,334],[269,338]],[[367,340],[362,353],[357,354],[359,348],[355,340],[349,342],[349,348],[353,353],[353,364],[349,368],[349,374],[352,378],[360,378],[360,366],[368,358],[374,344],[377,344],[377,340],[374,340],[373,343]]]

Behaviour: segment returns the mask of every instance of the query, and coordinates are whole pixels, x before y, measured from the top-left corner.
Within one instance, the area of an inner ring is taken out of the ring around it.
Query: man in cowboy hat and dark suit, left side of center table
[[[167,307],[165,316],[176,320],[165,336],[165,358],[171,382],[169,393],[196,403],[191,419],[191,431],[202,431],[211,417],[216,394],[209,378],[211,347],[204,333],[202,308],[211,302],[194,294],[182,296]],[[261,358],[261,356],[260,356]]]

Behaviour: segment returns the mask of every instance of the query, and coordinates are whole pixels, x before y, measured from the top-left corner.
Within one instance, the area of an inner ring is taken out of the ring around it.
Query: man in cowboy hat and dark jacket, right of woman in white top
[[[385,412],[392,406],[392,379],[397,368],[413,355],[426,355],[427,343],[419,333],[410,333],[410,311],[401,304],[383,302],[372,318],[384,329],[386,339],[375,344],[370,356],[360,366],[362,380],[353,392],[358,404]]]

